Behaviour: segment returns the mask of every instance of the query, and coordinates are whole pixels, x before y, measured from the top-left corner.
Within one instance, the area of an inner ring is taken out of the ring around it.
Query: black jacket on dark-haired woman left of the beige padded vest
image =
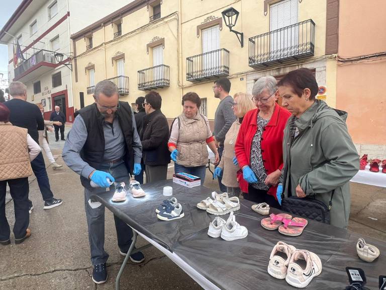
[[[170,163],[170,153],[167,148],[169,125],[161,110],[155,110],[143,118],[140,138],[145,165],[157,166]]]

